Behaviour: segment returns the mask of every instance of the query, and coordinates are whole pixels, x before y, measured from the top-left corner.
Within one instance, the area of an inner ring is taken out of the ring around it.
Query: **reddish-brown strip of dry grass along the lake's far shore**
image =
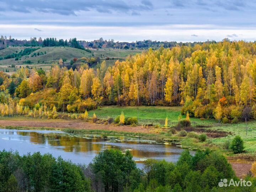
[[[0,120],[0,126],[13,126],[13,127],[36,127],[36,128],[56,128],[56,129],[98,129],[98,130],[112,130],[133,133],[150,133],[150,128],[143,127],[129,127],[129,126],[114,126],[94,124],[82,122],[79,120],[41,120],[41,119],[26,119],[26,120]]]

